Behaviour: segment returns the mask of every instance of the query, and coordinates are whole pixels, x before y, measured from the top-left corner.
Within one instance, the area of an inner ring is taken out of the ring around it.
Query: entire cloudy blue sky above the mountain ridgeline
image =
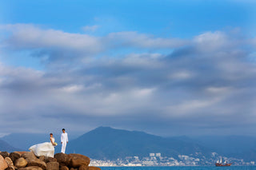
[[[58,124],[255,135],[255,5],[0,2],[2,134]]]

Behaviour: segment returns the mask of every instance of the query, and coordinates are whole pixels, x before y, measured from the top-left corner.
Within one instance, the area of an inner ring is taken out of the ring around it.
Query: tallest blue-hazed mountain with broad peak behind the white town
[[[161,152],[163,156],[178,157],[179,154],[190,155],[210,150],[200,144],[179,137],[164,138],[146,132],[126,131],[110,127],[99,127],[71,140],[67,152],[76,152],[93,159],[117,159],[126,156],[149,156],[150,152]]]

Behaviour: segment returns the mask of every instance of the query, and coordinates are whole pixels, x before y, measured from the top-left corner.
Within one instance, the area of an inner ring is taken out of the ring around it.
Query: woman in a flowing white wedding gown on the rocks
[[[29,150],[34,152],[34,155],[36,156],[54,157],[54,146],[56,145],[54,141],[55,141],[54,135],[53,133],[50,133],[50,142],[45,142],[42,144],[34,144],[29,148]]]

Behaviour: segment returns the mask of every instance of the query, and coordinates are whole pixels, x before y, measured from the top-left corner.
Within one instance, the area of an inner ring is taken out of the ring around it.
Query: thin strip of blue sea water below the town
[[[102,170],[256,170],[256,166],[196,167],[101,167]]]

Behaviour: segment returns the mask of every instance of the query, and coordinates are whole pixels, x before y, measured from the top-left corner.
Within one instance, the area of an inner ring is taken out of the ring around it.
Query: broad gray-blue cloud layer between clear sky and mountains
[[[255,38],[236,31],[182,40],[1,29],[9,33],[2,39],[8,53],[29,50],[46,65],[0,65],[3,133],[110,125],[162,135],[255,135]]]

